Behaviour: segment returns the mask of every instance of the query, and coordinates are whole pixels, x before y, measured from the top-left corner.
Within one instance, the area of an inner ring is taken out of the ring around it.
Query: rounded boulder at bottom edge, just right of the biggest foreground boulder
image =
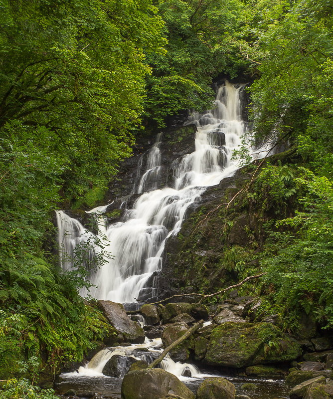
[[[235,386],[222,377],[207,378],[199,385],[196,399],[234,399]]]

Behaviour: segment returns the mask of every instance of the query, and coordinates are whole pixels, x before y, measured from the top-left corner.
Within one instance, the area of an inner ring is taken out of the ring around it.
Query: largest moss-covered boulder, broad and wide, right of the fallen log
[[[271,323],[224,323],[211,333],[205,363],[241,368],[290,361],[301,354],[298,342]]]

